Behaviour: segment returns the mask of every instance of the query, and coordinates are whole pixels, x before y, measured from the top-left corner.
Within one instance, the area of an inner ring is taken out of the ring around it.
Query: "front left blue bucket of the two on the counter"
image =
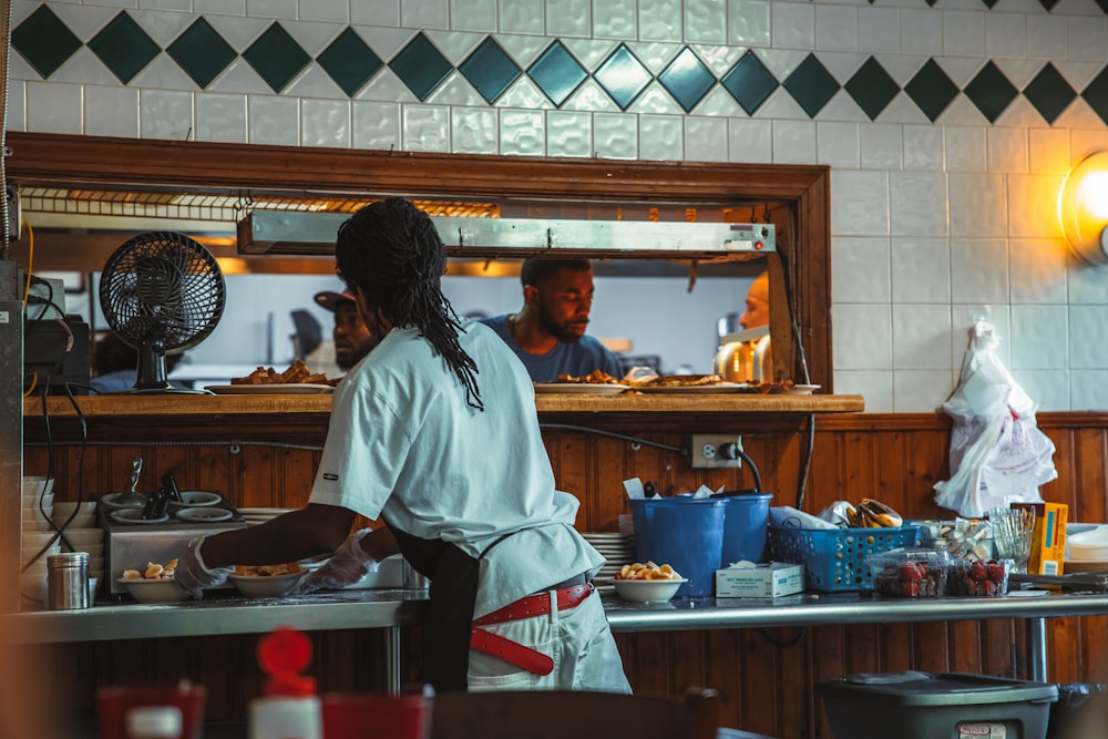
[[[724,552],[727,502],[706,497],[632,500],[635,554],[688,578],[678,596],[711,595]]]

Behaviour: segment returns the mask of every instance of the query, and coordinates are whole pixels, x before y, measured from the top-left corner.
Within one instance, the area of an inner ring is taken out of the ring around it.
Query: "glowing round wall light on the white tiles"
[[[1108,266],[1108,152],[1077,163],[1058,193],[1058,219],[1070,248],[1086,263]]]

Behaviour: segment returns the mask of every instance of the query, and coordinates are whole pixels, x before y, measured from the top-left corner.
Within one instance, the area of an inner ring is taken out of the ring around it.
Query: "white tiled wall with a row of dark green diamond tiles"
[[[834,378],[930,411],[975,312],[1043,410],[1108,408],[1108,0],[13,3],[9,130],[832,167]]]

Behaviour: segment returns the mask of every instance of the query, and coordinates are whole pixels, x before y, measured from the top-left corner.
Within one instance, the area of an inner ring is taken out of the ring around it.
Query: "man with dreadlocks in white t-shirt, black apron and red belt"
[[[401,552],[431,579],[421,681],[629,691],[589,583],[604,560],[573,527],[577,500],[554,489],[531,378],[443,297],[434,224],[390,197],[342,225],[335,255],[381,339],[336,389],[309,503],[195,540],[178,584],[199,597],[232,565],[334,552],[304,589],[335,587]],[[386,525],[348,537],[357,514]]]

